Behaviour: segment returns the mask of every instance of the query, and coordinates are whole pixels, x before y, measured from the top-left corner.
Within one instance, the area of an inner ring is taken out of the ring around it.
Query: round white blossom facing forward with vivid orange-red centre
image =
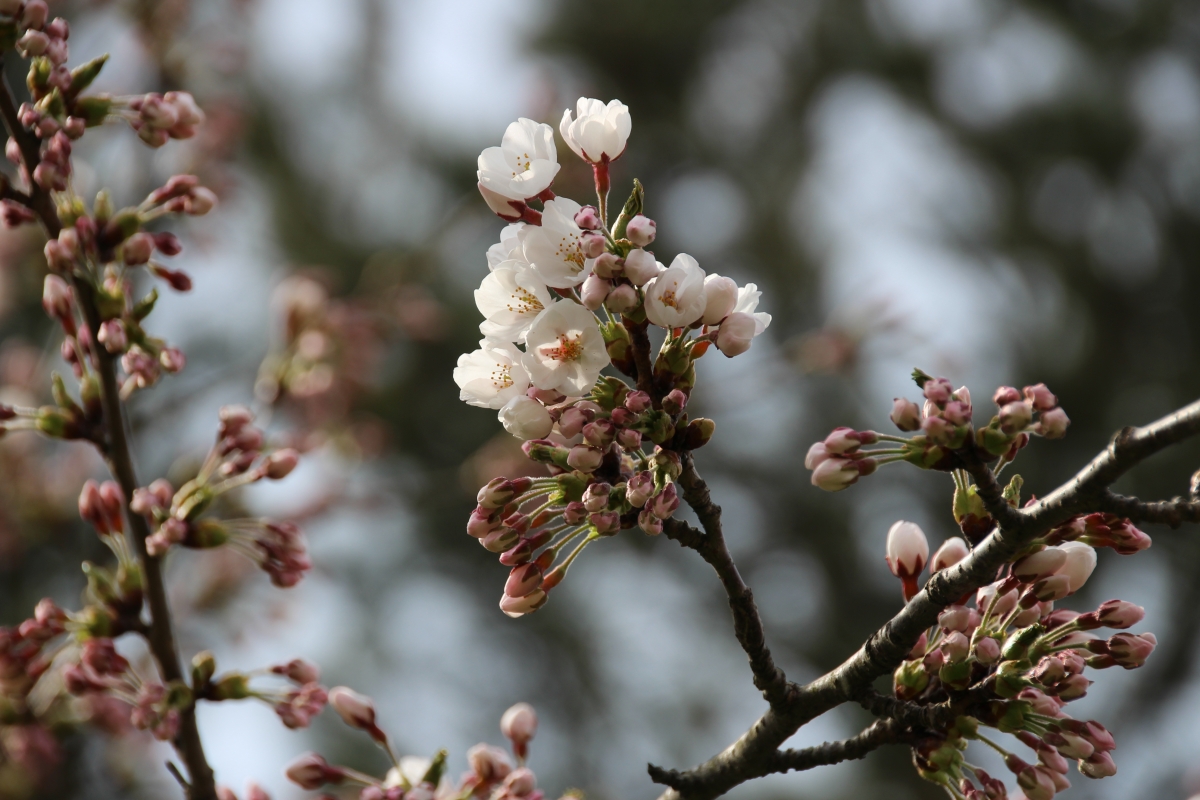
[[[526,335],[524,367],[538,389],[587,395],[608,366],[595,315],[564,300],[541,312]]]

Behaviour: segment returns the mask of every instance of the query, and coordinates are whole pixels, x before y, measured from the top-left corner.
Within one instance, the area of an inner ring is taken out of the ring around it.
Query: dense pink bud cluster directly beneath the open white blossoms
[[[598,539],[634,527],[662,533],[679,507],[679,453],[703,446],[715,429],[712,420],[689,421],[680,390],[654,408],[649,395],[617,378],[600,380],[583,401],[551,392],[526,399],[547,423],[539,431],[546,438],[529,439],[523,450],[550,476],[491,481],[467,523],[467,533],[511,567],[500,599],[509,616],[540,608]]]

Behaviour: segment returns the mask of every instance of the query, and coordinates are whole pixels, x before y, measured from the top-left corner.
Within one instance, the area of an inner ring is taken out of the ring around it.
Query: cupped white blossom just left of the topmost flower
[[[510,200],[538,197],[557,174],[554,130],[523,116],[504,132],[499,148],[479,154],[480,185]]]

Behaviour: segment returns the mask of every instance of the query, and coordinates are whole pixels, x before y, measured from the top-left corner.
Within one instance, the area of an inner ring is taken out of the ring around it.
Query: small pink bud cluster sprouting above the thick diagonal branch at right
[[[1061,439],[1070,420],[1058,407],[1058,399],[1045,384],[1026,386],[1022,392],[1001,386],[992,396],[1000,409],[985,427],[972,425],[971,392],[954,389],[946,378],[930,378],[913,372],[913,379],[925,395],[924,405],[898,397],[892,407],[892,422],[904,432],[918,432],[910,438],[876,431],[836,428],[823,441],[814,444],[804,459],[812,470],[812,485],[827,492],[840,492],[872,474],[883,464],[908,462],[922,469],[949,471],[961,467],[960,452],[972,447],[985,462],[997,462],[998,473],[1016,458],[1030,443],[1030,435]],[[1034,416],[1037,417],[1034,420]],[[876,450],[864,445],[883,444]]]

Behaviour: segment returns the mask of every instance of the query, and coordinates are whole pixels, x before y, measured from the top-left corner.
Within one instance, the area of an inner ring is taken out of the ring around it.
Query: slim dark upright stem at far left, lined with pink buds
[[[17,140],[25,169],[30,175],[37,167],[41,145],[32,132],[26,131],[20,125],[17,115],[17,104],[8,88],[7,79],[0,73],[0,115],[4,116],[5,127]],[[37,215],[47,235],[58,237],[61,230],[58,210],[49,192],[36,184],[31,186],[29,194],[29,207]],[[92,342],[100,341],[100,311],[96,308],[91,287],[78,279],[76,276],[67,276],[74,294],[79,300],[84,320],[91,331]],[[143,577],[145,578],[145,597],[150,609],[150,630],[146,636],[150,650],[164,681],[184,680],[184,670],[179,661],[179,651],[175,645],[175,634],[172,630],[170,607],[167,603],[167,589],[162,578],[162,569],[158,560],[150,558],[146,553],[145,540],[150,535],[150,528],[145,517],[133,513],[128,509],[128,500],[133,497],[133,491],[139,483],[133,469],[133,456],[126,437],[125,409],[121,404],[120,387],[116,383],[116,365],[112,356],[102,347],[94,347],[96,355],[97,372],[101,385],[101,407],[104,414],[104,431],[107,441],[104,443],[104,457],[108,461],[109,470],[121,487],[126,498],[125,518],[130,527],[130,539],[134,552],[142,564]],[[216,800],[216,781],[212,768],[209,766],[204,756],[204,746],[200,741],[200,733],[196,724],[196,710],[188,706],[182,710],[179,727],[179,735],[175,741],[175,750],[180,758],[187,764],[191,776],[188,798],[191,800]]]

